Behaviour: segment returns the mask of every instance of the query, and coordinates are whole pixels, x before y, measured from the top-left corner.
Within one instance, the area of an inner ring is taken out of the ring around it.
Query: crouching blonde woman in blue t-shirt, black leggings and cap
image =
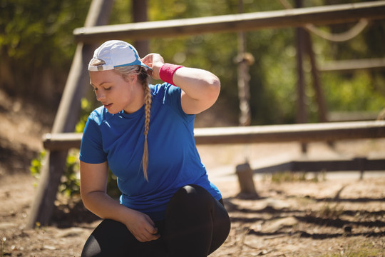
[[[230,218],[195,147],[195,114],[215,103],[217,76],[140,59],[107,41],[88,65],[96,99],[81,143],[81,196],[103,218],[82,256],[208,256],[227,238]],[[148,76],[163,84],[149,85]],[[106,194],[108,168],[120,203]]]

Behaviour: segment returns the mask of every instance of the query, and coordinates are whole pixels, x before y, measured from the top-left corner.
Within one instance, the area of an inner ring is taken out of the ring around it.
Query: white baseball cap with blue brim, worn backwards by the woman
[[[91,66],[94,59],[103,60],[106,64]],[[139,58],[138,51],[125,41],[110,40],[104,42],[93,53],[93,58],[88,64],[88,71],[108,71],[119,66],[140,65],[145,69],[152,70],[149,66],[143,64]]]

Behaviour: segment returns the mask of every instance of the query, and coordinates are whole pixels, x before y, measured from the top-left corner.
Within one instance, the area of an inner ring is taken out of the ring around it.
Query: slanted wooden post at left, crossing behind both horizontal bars
[[[111,0],[93,0],[85,26],[107,24],[112,4]],[[81,98],[88,85],[87,65],[92,57],[93,49],[95,46],[82,43],[79,43],[76,48],[63,96],[53,122],[52,133],[73,132],[75,129],[81,109]],[[37,222],[41,225],[49,223],[66,157],[67,151],[48,151],[46,154],[27,227],[34,228]]]

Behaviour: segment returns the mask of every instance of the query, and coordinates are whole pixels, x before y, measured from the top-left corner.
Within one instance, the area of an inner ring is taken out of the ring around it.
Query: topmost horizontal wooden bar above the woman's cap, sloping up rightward
[[[75,29],[73,34],[77,41],[90,44],[109,39],[143,40],[217,32],[279,29],[305,24],[341,24],[359,19],[385,19],[385,1],[83,27]]]

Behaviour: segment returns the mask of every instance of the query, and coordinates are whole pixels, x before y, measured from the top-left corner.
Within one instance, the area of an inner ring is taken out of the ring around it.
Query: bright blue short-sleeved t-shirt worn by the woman
[[[170,84],[150,85],[153,95],[148,131],[148,181],[141,166],[144,145],[144,106],[133,114],[110,114],[103,106],[88,117],[80,160],[103,163],[118,178],[120,203],[165,218],[168,201],[179,188],[195,184],[215,199],[222,196],[208,180],[195,146],[194,119],[180,104],[181,90]]]

